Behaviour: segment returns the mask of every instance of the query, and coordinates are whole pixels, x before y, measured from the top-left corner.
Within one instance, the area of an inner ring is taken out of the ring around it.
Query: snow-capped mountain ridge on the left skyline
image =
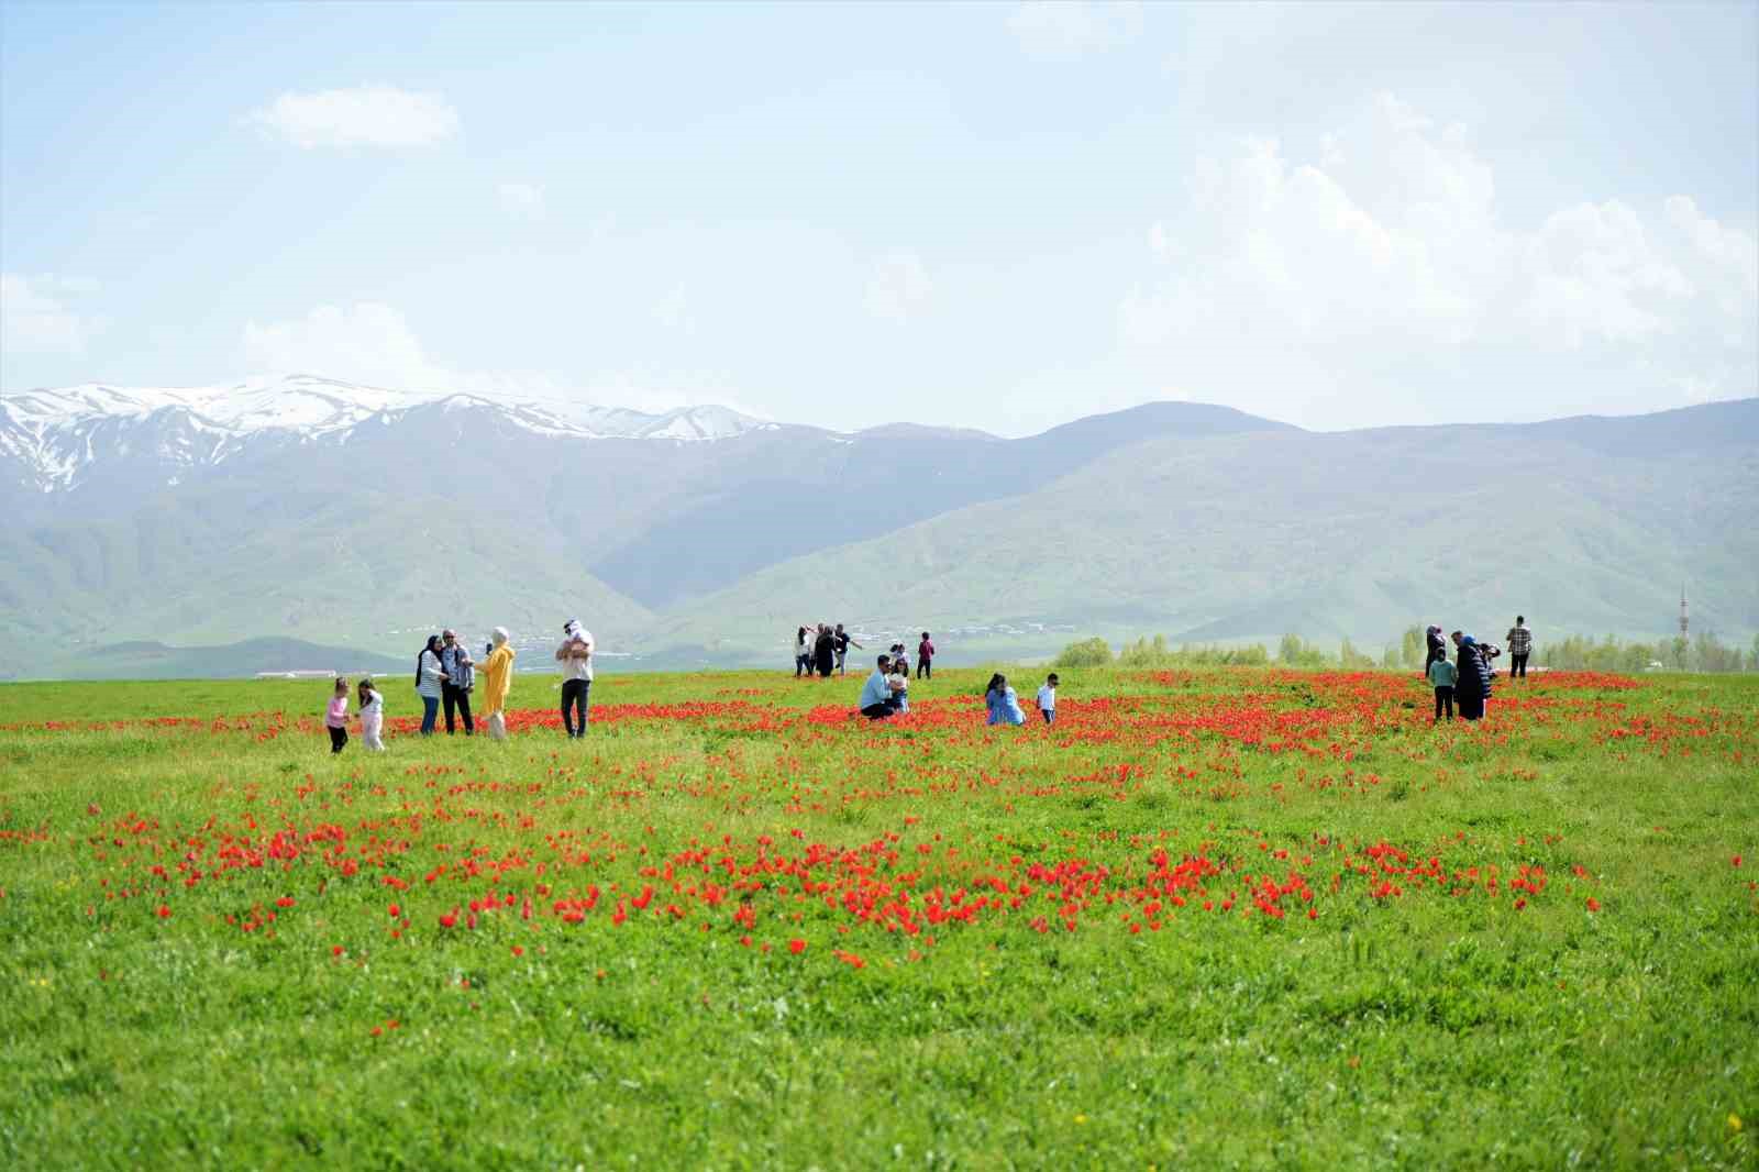
[[[649,414],[566,399],[491,399],[392,391],[313,375],[223,387],[111,387],[81,384],[0,396],[0,458],[37,493],[79,487],[100,463],[151,463],[176,484],[179,470],[213,466],[248,447],[347,443],[366,424],[410,412],[487,410],[544,436],[575,440],[712,442],[774,428],[725,407]]]

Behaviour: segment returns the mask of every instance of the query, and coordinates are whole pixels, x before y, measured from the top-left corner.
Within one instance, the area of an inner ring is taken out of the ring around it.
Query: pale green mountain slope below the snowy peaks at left
[[[79,648],[273,632],[413,653],[442,625],[529,637],[580,614],[623,641],[653,621],[579,563],[542,526],[468,502],[164,494],[125,517],[0,535],[0,635]]]

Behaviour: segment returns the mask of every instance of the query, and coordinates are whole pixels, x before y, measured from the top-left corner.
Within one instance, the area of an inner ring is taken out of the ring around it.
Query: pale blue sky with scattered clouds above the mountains
[[[1759,5],[0,0],[0,391],[1759,394]]]

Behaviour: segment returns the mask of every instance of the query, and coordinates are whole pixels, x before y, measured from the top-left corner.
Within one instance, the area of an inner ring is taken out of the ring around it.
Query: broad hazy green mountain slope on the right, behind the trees
[[[755,574],[656,635],[674,655],[774,660],[799,621],[1077,626],[1189,641],[1349,637],[1411,623],[1500,637],[1759,630],[1754,399],[1536,428],[1152,440],[1010,500]],[[1685,417],[1682,421],[1682,417]],[[1604,428],[1617,422],[1611,435]],[[1689,424],[1689,426],[1687,426]],[[1608,450],[1613,445],[1617,450]],[[943,651],[957,641],[943,639]]]

